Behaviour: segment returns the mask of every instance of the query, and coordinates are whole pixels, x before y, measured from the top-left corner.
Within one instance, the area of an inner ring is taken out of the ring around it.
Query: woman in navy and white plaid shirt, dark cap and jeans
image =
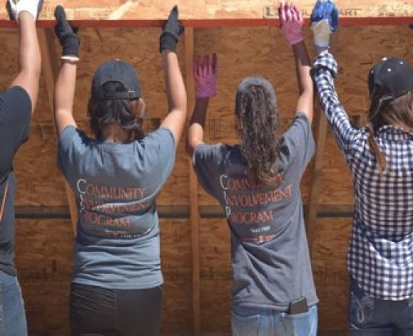
[[[315,16],[315,84],[355,187],[347,256],[350,332],[413,335],[413,69],[399,58],[374,65],[367,126],[353,127],[334,86],[332,21]]]

